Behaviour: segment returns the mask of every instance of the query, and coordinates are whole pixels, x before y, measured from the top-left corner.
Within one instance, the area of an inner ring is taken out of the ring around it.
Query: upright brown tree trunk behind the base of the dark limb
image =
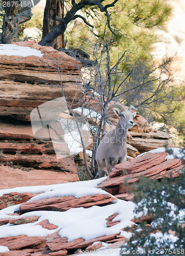
[[[42,38],[48,35],[52,31],[52,29],[59,24],[57,20],[52,19],[53,12],[56,11],[56,16],[63,19],[63,10],[64,10],[63,1],[47,0],[45,9],[44,9]],[[64,34],[61,34],[57,38],[55,38],[51,46],[54,49],[64,48]]]

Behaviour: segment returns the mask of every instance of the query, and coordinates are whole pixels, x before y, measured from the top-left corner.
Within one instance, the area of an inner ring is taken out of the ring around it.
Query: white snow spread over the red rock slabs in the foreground
[[[45,193],[31,198],[30,201],[60,196],[73,195],[75,197],[82,197],[94,194],[108,194],[106,191],[97,188],[104,179],[106,179],[106,177],[97,180],[57,185],[3,189],[1,194],[3,195],[4,193],[11,193],[13,191],[18,191],[19,193],[33,193],[33,191],[34,193],[38,193],[39,191],[45,191]],[[110,234],[120,233],[122,232],[122,228],[133,225],[133,222],[130,220],[137,218],[133,213],[134,208],[135,204],[133,202],[117,199],[106,206],[95,205],[89,208],[78,207],[66,211],[30,211],[22,214],[21,217],[38,216],[39,220],[37,222],[21,225],[3,225],[0,227],[0,237],[19,236],[21,234],[26,234],[27,236],[47,236],[57,230],[59,230],[59,235],[61,237],[67,237],[69,242],[78,238],[89,240],[105,235],[108,236]],[[18,209],[19,205],[15,205],[0,210],[0,218],[2,217],[4,219],[10,217],[7,214],[13,213]],[[106,218],[114,214],[114,212],[118,212],[119,215],[113,220],[120,220],[120,223],[107,227]],[[45,219],[47,219],[49,223],[57,225],[58,228],[48,230],[36,225]],[[122,232],[122,234],[125,237],[131,236],[131,234],[127,232]]]

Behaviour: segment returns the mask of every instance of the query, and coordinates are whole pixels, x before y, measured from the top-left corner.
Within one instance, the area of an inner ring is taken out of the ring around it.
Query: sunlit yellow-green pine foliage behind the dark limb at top
[[[163,27],[172,15],[172,8],[162,0],[121,0],[110,8],[109,12],[111,14],[110,26],[115,34],[111,48],[112,62],[114,58],[118,58],[120,52],[125,50],[132,52],[129,58],[129,61],[132,61],[138,57],[146,60],[152,50],[152,44],[157,41],[157,36],[152,28]],[[104,38],[105,15],[96,12],[92,16],[94,16],[95,34],[99,39]],[[77,33],[79,36],[76,35],[79,39],[74,39],[74,30],[75,25],[73,30],[68,31],[73,34],[72,37],[70,37],[70,33],[67,33],[67,39],[68,44],[76,48],[83,44],[84,36],[87,38],[90,33],[80,29]],[[109,37],[109,32],[106,35]],[[125,68],[126,61],[123,65]]]

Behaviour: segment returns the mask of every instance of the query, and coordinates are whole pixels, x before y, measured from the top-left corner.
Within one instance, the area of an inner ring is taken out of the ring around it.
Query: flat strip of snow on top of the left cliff
[[[0,45],[0,55],[22,56],[22,57],[27,57],[27,56],[42,57],[43,54],[40,51],[32,49],[27,46],[1,44]]]

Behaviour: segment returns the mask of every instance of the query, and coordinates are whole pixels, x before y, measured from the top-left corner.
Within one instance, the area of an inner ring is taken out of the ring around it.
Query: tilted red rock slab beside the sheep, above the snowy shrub
[[[179,176],[184,165],[177,158],[168,159],[167,153],[146,153],[137,158],[115,165],[109,177],[99,187],[123,200],[132,200],[131,185],[145,175],[150,179]]]

